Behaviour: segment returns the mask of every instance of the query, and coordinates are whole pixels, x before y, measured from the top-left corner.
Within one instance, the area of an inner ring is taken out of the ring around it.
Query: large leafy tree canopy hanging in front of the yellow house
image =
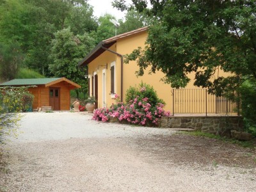
[[[147,46],[127,61],[138,59],[140,70],[161,70],[172,87],[184,87],[195,72],[195,85],[221,95],[256,79],[255,0],[115,0],[120,10],[135,7],[154,19]],[[149,6],[150,5],[150,6]],[[231,72],[218,76],[218,70]],[[215,79],[212,81],[212,79]]]

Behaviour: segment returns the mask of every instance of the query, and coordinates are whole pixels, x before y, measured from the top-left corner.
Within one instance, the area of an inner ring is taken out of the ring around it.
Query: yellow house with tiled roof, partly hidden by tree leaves
[[[218,100],[220,100],[220,98],[215,98],[208,106],[207,99],[209,100],[210,97],[206,98],[206,100],[205,98],[204,100],[197,99],[198,104],[200,102],[201,106],[197,105],[195,102],[188,104],[188,101],[187,104],[184,104],[187,99],[191,100],[193,97],[200,98],[199,94],[202,94],[204,97],[207,95],[206,90],[194,86],[193,81],[186,87],[186,92],[184,89],[173,90],[170,84],[164,84],[163,81],[161,81],[164,77],[162,72],[157,71],[156,74],[148,74],[146,70],[144,76],[137,77],[135,74],[136,70],[138,70],[136,61],[130,61],[129,64],[124,63],[123,56],[125,54],[130,54],[138,47],[145,47],[147,35],[148,28],[145,27],[113,36],[100,42],[79,62],[79,66],[88,65],[88,76],[86,77],[88,77],[89,80],[89,95],[97,99],[96,108],[111,106],[111,104],[115,102],[115,93],[120,95],[121,100],[125,100],[127,89],[143,81],[143,83],[150,84],[154,87],[157,95],[166,102],[165,109],[171,111],[171,113],[174,111],[178,112],[181,108],[185,108],[185,113],[205,113],[205,105],[206,112],[211,113],[211,111],[217,111]],[[190,75],[192,77],[194,74]],[[191,92],[189,90],[191,90]],[[183,93],[180,93],[180,91]],[[186,98],[186,100],[182,101],[184,98]],[[210,106],[211,109],[207,109],[207,107],[209,108]]]

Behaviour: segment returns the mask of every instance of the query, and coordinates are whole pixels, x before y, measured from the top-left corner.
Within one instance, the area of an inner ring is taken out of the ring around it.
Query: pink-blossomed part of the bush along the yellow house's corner
[[[146,92],[147,88],[142,88],[141,92]],[[148,97],[140,96],[124,104],[120,102],[119,96],[115,95],[116,104],[109,108],[96,109],[93,120],[108,122],[111,118],[117,118],[119,122],[143,126],[157,126],[158,120],[162,116],[170,116],[170,112],[164,111],[164,104],[150,104]]]

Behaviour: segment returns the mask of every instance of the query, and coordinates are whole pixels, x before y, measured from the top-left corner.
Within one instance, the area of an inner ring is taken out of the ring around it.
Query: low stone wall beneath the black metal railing
[[[243,131],[241,116],[163,116],[160,127],[190,128],[216,134],[225,130]]]

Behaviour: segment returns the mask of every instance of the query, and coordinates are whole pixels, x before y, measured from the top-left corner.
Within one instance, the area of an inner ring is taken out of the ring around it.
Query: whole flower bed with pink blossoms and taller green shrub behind
[[[109,108],[96,109],[93,120],[109,122],[112,118],[116,118],[116,120],[125,124],[156,127],[159,118],[170,116],[169,111],[164,111],[164,104],[159,102],[161,99],[157,97],[152,86],[147,84],[141,83],[139,88],[130,87],[127,90],[126,99],[131,100],[128,100],[126,104],[120,102],[120,97],[116,94],[116,103]]]

